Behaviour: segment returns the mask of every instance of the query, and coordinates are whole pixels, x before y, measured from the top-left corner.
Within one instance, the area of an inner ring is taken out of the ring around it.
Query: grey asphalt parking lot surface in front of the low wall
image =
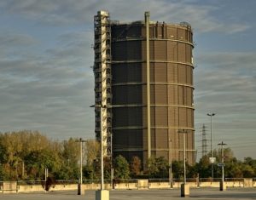
[[[95,191],[85,191],[84,195],[77,195],[77,191],[50,191],[18,194],[1,194],[1,200],[95,200]],[[180,197],[179,189],[169,190],[113,190],[110,191],[110,200],[177,200],[177,199],[256,199],[256,188],[234,188],[227,191],[201,188],[190,189],[189,197]]]

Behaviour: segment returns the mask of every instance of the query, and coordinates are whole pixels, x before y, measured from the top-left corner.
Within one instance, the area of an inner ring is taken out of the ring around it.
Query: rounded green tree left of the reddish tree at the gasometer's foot
[[[129,163],[126,161],[125,157],[119,155],[114,158],[114,177],[125,180],[130,178]]]

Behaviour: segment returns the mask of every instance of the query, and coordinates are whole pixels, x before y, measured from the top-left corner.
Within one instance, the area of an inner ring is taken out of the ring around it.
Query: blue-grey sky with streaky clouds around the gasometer
[[[2,0],[0,131],[39,130],[52,139],[94,137],[93,16],[188,21],[195,40],[195,145],[213,119],[213,147],[255,157],[256,1]],[[208,142],[208,145],[210,143]],[[198,153],[198,157],[201,154]]]

